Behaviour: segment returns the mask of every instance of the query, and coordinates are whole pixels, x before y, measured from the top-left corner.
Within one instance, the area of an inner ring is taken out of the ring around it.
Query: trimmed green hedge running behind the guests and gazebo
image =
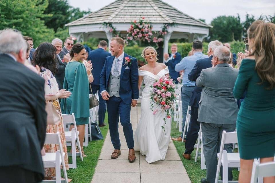
[[[89,44],[88,42],[85,42],[85,44],[87,44],[88,46],[90,46],[92,49],[97,49],[97,47],[92,46],[91,44]],[[170,47],[171,47],[172,43],[169,43],[169,51],[170,51]],[[188,52],[190,50],[192,50],[192,43],[176,43],[178,45],[178,53],[181,54],[181,57],[186,57],[188,55]],[[207,55],[207,49],[208,49],[208,44],[204,42],[203,43],[203,53]],[[230,42],[231,44],[231,52],[233,53],[238,53],[238,52],[243,52],[245,49],[245,43],[241,42],[241,41],[232,41]],[[139,62],[139,66],[144,65],[146,62],[144,61],[144,58],[142,58],[141,53],[142,50],[145,47],[139,47],[138,45],[134,45],[134,46],[125,46],[124,51],[125,53],[127,53],[128,55],[131,55],[132,57],[135,57],[138,62]]]

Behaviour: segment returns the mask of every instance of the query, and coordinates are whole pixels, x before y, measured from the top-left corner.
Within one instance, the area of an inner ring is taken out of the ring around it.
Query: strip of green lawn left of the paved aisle
[[[108,124],[108,115],[106,113],[105,123]],[[108,125],[100,127],[101,133],[105,139],[108,132]],[[95,166],[101,152],[104,140],[97,140],[89,142],[88,147],[84,147],[84,152],[87,157],[83,158],[83,161],[80,161],[80,157],[76,158],[76,169],[67,170],[68,178],[72,179],[71,183],[90,183],[93,174],[95,173]],[[68,151],[70,148],[68,148]],[[72,163],[72,158],[69,157],[69,163]]]

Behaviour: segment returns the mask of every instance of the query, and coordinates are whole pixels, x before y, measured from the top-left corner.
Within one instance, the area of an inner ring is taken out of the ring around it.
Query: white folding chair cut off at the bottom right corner
[[[258,177],[275,176],[275,162],[261,163],[254,161],[250,183],[257,183]]]

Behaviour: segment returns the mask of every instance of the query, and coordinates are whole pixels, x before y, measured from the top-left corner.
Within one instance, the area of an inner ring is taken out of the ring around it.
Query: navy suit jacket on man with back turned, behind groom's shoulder
[[[91,83],[93,85],[99,85],[99,78],[101,71],[103,69],[106,57],[111,56],[111,53],[105,51],[102,48],[98,48],[92,51],[89,51],[88,60],[91,60],[93,64],[92,74],[94,81]]]

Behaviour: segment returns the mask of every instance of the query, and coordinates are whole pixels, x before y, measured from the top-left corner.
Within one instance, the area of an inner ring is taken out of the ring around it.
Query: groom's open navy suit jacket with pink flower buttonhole
[[[132,59],[131,65],[128,64],[129,69],[125,69],[127,66],[124,65],[125,57],[129,57]],[[100,75],[100,93],[103,90],[107,91],[109,76],[114,59],[114,56],[106,57],[104,67]],[[131,104],[132,99],[139,98],[137,59],[131,57],[130,55],[127,55],[126,53],[124,53],[121,67],[119,96],[125,104]]]

